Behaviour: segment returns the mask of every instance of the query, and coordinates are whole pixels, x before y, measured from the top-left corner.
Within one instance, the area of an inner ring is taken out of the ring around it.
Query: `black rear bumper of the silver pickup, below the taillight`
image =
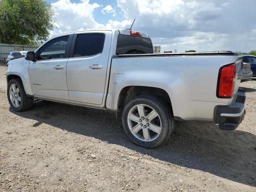
[[[228,106],[217,106],[215,111],[215,122],[220,129],[235,130],[238,128],[245,115],[246,95],[243,89],[239,89],[233,102]]]

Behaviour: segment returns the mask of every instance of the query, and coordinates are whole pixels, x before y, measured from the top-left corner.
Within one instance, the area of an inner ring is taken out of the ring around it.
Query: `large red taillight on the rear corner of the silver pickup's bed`
[[[231,98],[234,94],[235,79],[236,78],[236,64],[230,64],[220,68],[219,74],[219,89],[217,96],[219,98]]]

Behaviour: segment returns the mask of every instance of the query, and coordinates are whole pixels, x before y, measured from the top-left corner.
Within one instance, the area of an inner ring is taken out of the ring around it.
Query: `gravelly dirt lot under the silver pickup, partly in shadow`
[[[10,110],[0,65],[0,191],[256,191],[256,79],[235,131],[177,126],[169,142],[132,144],[108,111],[37,102]]]

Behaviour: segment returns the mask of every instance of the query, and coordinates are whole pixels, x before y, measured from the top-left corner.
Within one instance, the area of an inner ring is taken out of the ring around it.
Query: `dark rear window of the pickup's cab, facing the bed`
[[[118,35],[116,54],[151,54],[153,45],[149,38]]]

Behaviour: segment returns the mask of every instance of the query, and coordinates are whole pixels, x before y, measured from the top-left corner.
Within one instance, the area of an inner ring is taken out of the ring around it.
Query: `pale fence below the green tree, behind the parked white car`
[[[5,63],[6,57],[12,51],[35,51],[37,45],[14,45],[14,44],[0,44],[0,63]]]

